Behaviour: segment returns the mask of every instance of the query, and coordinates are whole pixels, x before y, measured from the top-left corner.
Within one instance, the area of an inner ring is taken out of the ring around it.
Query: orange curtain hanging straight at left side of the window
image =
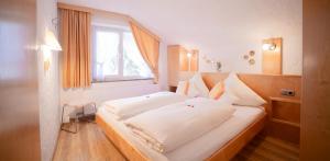
[[[91,84],[90,13],[62,9],[63,87]]]

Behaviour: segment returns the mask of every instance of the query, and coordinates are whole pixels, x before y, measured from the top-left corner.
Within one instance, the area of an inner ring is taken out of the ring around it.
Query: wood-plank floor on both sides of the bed
[[[232,161],[297,161],[295,145],[270,137],[254,138]],[[101,129],[94,123],[79,123],[78,134],[61,131],[54,161],[123,161]]]

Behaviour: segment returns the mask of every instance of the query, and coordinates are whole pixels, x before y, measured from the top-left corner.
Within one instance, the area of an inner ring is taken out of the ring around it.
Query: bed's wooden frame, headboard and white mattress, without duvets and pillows
[[[188,78],[185,77],[182,80]],[[209,89],[226,78],[228,73],[202,73],[202,79]],[[297,89],[297,80],[292,76],[239,74],[239,78],[267,102],[271,96],[280,97],[280,89]],[[103,107],[99,108],[96,122],[129,160],[230,160],[264,129],[264,125],[268,122],[267,114],[272,112],[268,104],[265,104],[264,108],[251,106],[237,108],[233,118],[205,135],[206,138],[201,137],[165,154],[141,146],[138,140],[128,135],[122,123],[113,119],[113,116]],[[244,119],[244,122],[239,122],[239,119]],[[238,129],[230,128],[233,126]],[[266,134],[267,129],[265,128]],[[205,146],[205,141],[209,142],[208,146]]]

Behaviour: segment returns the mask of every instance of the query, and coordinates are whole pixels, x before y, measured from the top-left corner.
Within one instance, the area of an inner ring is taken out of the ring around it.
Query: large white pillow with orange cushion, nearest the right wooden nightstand
[[[242,106],[261,106],[266,103],[260,95],[242,82],[235,73],[230,73],[211,90],[209,97]]]

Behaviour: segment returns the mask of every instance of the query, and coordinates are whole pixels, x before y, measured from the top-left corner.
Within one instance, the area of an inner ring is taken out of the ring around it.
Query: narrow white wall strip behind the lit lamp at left
[[[37,44],[43,43],[45,30],[56,34],[52,19],[57,16],[56,0],[37,0]],[[43,53],[37,53],[38,94],[40,94],[40,129],[43,161],[52,161],[59,131],[59,78],[58,54],[53,53],[51,67],[44,71]]]

